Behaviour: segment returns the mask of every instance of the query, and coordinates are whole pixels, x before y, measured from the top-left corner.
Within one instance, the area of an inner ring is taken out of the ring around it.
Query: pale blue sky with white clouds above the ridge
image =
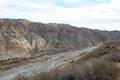
[[[120,30],[120,0],[0,0],[0,18]]]

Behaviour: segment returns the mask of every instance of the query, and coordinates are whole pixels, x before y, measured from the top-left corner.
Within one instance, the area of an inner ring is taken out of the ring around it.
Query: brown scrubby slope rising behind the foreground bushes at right
[[[83,57],[78,60],[79,62],[84,62],[93,58],[106,59],[113,62],[120,61],[120,42],[108,42],[99,46],[92,52],[83,54]]]

